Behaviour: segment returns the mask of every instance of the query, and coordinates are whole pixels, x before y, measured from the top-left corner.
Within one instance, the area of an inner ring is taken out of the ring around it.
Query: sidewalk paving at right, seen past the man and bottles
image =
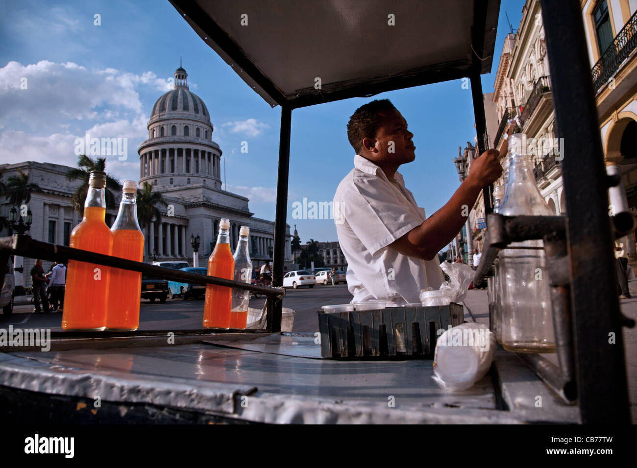
[[[620,309],[624,315],[637,321],[637,279],[628,284],[631,299],[620,299]],[[489,325],[489,305],[487,303],[487,290],[472,289],[464,298],[464,320],[473,322],[471,314],[476,322]],[[629,329],[624,327],[624,350],[626,356],[626,378],[628,381],[628,396],[631,404],[631,416],[633,424],[637,423],[637,327]],[[548,358],[555,355],[546,355]],[[552,360],[552,359],[551,359]]]

